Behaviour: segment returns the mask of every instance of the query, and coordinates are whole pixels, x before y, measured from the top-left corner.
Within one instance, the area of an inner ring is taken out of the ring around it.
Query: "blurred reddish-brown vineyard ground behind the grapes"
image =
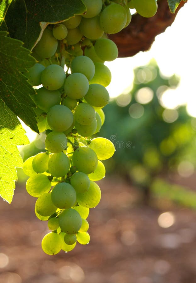
[[[34,214],[36,198],[18,186],[11,205],[0,200],[0,283],[196,283],[195,211],[139,206],[137,191],[117,177],[99,185],[90,243],[55,256],[41,248],[48,229]],[[157,221],[165,211],[175,220],[169,228]]]

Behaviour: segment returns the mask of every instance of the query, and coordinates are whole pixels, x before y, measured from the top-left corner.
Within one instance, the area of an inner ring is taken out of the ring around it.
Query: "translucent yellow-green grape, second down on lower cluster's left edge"
[[[51,181],[44,174],[33,175],[26,181],[26,190],[32,197],[40,197],[50,191],[50,188]]]

